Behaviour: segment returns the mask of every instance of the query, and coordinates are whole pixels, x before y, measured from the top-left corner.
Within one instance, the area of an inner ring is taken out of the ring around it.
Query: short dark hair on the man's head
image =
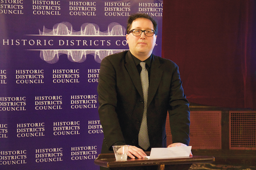
[[[136,13],[136,14],[131,14],[127,20],[127,34],[129,33],[130,29],[131,29],[131,24],[134,20],[136,20],[137,18],[146,18],[148,20],[151,20],[151,22],[153,23],[154,26],[154,32],[157,35],[157,21],[155,21],[152,17],[150,17],[148,14],[143,14],[143,13]]]

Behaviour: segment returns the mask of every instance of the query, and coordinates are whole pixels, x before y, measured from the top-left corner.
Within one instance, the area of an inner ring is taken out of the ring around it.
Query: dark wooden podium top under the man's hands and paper
[[[150,152],[146,152],[150,155]],[[129,167],[153,166],[157,165],[158,170],[164,170],[165,165],[173,164],[193,164],[193,163],[209,163],[214,162],[213,156],[190,156],[188,158],[175,159],[130,159],[127,161],[116,161],[113,153],[101,153],[98,158],[94,160],[96,165],[101,167],[108,167],[111,170],[125,170]]]

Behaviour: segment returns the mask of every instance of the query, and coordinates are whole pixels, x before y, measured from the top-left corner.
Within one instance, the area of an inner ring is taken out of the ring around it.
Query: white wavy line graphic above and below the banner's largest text
[[[80,31],[73,30],[73,27],[68,22],[62,22],[55,24],[53,29],[43,28],[43,31],[39,30],[40,36],[56,36],[56,37],[125,37],[126,29],[119,23],[111,23],[108,25],[107,31],[100,31],[99,26],[93,23],[84,23],[81,25]],[[62,40],[63,41],[63,40]],[[83,42],[82,42],[83,41]],[[84,62],[88,54],[93,55],[96,62],[101,62],[102,59],[108,55],[119,53],[127,49],[99,49],[99,44],[103,44],[107,40],[96,40],[98,43],[95,49],[41,49],[40,58],[48,63],[56,63],[61,54],[67,54],[67,58],[71,62]],[[110,40],[109,40],[110,41]],[[120,40],[117,40],[120,42]],[[64,42],[64,41],[63,41]],[[81,43],[92,43],[92,40],[79,40]],[[95,42],[94,42],[95,43]],[[89,45],[89,46],[90,46]],[[95,45],[95,44],[94,44]],[[108,42],[110,46],[110,42]],[[125,44],[127,45],[127,44]]]

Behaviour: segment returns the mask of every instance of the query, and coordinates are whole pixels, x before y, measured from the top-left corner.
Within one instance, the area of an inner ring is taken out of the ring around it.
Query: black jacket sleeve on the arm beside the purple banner
[[[99,94],[99,118],[102,124],[105,142],[108,150],[112,150],[111,146],[114,143],[125,144],[125,139],[116,113],[116,71],[110,60],[108,60],[108,57],[102,59],[101,62],[97,91]]]

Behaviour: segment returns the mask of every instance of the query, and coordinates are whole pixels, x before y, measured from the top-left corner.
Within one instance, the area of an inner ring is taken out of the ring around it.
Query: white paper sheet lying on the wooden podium
[[[169,159],[189,157],[192,146],[178,146],[178,147],[154,147],[151,148],[148,159]]]

